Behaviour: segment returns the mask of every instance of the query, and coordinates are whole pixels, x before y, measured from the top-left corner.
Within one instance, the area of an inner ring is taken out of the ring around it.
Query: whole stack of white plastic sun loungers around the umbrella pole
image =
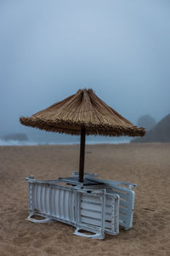
[[[71,224],[76,227],[75,235],[98,239],[103,239],[105,233],[117,235],[119,225],[125,230],[133,226],[132,189],[136,184],[102,180],[88,172],[83,183],[77,180],[77,172],[56,180],[26,177],[29,183],[27,219],[34,223]]]

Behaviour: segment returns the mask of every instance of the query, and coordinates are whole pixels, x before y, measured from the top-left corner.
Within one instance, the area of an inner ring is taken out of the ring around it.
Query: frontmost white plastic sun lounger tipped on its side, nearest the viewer
[[[81,189],[61,185],[62,180],[36,180],[29,183],[29,217],[34,223],[61,221],[77,228],[75,235],[103,239],[105,233],[119,232],[119,195],[106,193],[106,189]],[[35,215],[44,219],[33,218]],[[87,230],[93,235],[80,232]]]

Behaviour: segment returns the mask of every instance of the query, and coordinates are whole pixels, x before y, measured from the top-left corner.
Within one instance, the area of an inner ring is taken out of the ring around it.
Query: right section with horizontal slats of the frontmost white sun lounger
[[[119,195],[106,193],[105,189],[77,190],[77,230],[88,230],[96,233],[93,238],[103,239],[105,233],[117,235],[119,233]]]

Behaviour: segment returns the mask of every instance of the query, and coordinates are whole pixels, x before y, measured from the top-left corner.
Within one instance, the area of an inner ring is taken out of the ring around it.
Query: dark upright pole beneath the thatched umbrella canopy
[[[84,176],[84,155],[85,155],[85,138],[86,130],[81,127],[81,143],[80,143],[80,162],[79,162],[79,182],[83,182]]]

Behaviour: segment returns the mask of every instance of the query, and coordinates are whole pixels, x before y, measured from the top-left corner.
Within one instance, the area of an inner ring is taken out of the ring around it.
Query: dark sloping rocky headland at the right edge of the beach
[[[170,114],[161,119],[144,137],[138,137],[131,143],[170,143]]]

